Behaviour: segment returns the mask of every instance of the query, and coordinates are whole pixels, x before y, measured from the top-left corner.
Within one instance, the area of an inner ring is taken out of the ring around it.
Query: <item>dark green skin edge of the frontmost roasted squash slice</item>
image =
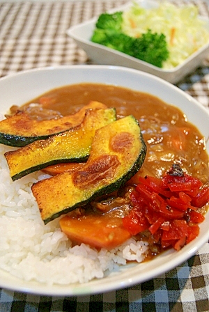
[[[114,182],[114,184],[107,185],[106,187],[103,187],[102,189],[98,189],[97,192],[95,192],[91,197],[89,197],[85,201],[81,201],[72,207],[64,208],[61,212],[53,214],[52,217],[43,220],[44,224],[48,224],[50,221],[61,217],[61,215],[67,214],[68,212],[71,212],[72,210],[75,210],[76,208],[82,207],[82,206],[86,205],[87,203],[90,203],[91,201],[95,200],[95,198],[98,198],[99,196],[109,194],[111,192],[116,191],[120,187],[123,187],[123,185],[125,185],[125,183],[128,180],[130,180],[130,178],[132,178],[132,176],[134,176],[139,171],[142,164],[144,163],[147,148],[146,148],[146,143],[144,141],[144,137],[142,136],[142,134],[140,135],[140,140],[141,140],[141,144],[142,144],[141,153],[140,153],[139,157],[136,159],[136,162],[133,164],[130,171],[125,173],[120,179],[118,179],[116,182]]]

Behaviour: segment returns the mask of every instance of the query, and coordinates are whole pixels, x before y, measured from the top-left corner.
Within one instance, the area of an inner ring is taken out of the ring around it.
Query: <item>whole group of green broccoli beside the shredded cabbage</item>
[[[164,34],[152,33],[149,29],[141,37],[133,38],[123,33],[122,23],[123,12],[101,14],[91,41],[162,68],[163,61],[169,57]]]

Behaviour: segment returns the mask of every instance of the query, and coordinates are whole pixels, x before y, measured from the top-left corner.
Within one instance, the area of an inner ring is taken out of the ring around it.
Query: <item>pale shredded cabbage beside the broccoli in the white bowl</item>
[[[171,69],[209,42],[209,28],[198,14],[198,8],[192,4],[178,7],[163,2],[157,8],[145,9],[133,3],[123,12],[122,31],[132,37],[139,37],[148,29],[164,33],[169,58],[163,68]]]

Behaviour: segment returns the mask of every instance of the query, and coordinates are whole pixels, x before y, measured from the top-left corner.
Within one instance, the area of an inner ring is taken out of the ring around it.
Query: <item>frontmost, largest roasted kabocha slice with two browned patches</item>
[[[43,221],[47,224],[102,194],[114,192],[139,171],[145,156],[146,145],[133,116],[96,130],[91,155],[82,170],[66,171],[32,186]]]

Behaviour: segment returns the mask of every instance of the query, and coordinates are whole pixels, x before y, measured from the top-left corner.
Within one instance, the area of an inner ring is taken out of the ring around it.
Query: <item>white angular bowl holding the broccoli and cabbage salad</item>
[[[157,6],[155,1],[150,0],[142,0],[139,1],[139,3],[144,8],[153,8]],[[112,13],[114,11],[127,10],[127,8],[130,7],[130,4],[131,3],[128,3],[125,6],[110,10],[109,12]],[[207,28],[209,30],[208,19],[206,19],[206,17],[201,17],[201,19],[207,22]],[[135,68],[137,70],[143,70],[144,72],[148,72],[164,80],[167,80],[172,84],[176,84],[178,81],[180,81],[180,79],[183,79],[183,77],[201,65],[203,60],[208,56],[209,43],[189,56],[183,63],[176,66],[176,68],[171,70],[157,68],[154,65],[136,59],[132,56],[128,56],[122,52],[118,52],[114,49],[109,49],[104,45],[91,42],[90,38],[93,34],[93,29],[95,29],[95,22],[97,20],[98,17],[94,17],[87,22],[70,27],[70,29],[67,31],[68,36],[73,38],[75,42],[77,42],[77,45],[84,49],[89,59],[91,59],[96,64],[119,65],[128,68]]]

